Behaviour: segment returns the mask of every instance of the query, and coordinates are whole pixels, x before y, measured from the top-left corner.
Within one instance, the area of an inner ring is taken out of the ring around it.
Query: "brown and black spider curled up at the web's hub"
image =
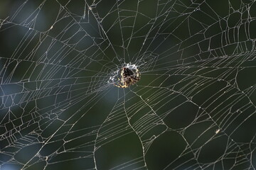
[[[120,77],[121,79],[118,78],[119,82],[117,84],[114,84],[114,86],[120,88],[127,88],[133,84],[136,84],[139,81],[139,69],[129,69],[128,67],[122,67]]]

